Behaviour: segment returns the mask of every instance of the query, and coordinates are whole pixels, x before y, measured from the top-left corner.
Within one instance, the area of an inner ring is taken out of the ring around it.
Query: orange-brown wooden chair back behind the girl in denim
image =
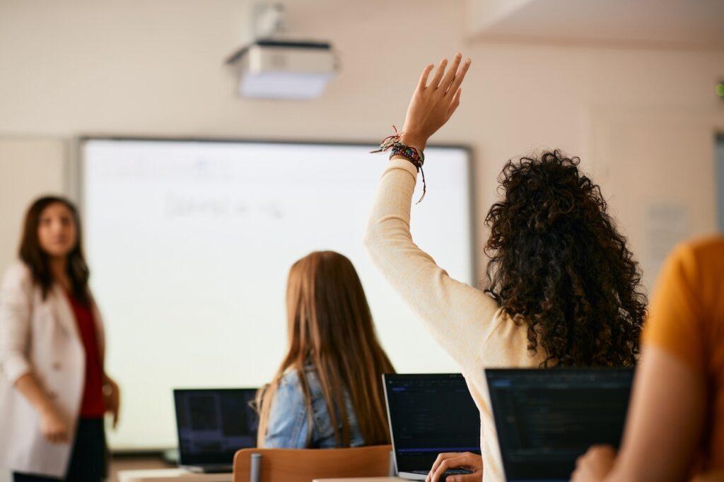
[[[391,473],[391,451],[391,445],[352,449],[241,449],[234,455],[233,480],[311,482],[316,478],[386,477]]]

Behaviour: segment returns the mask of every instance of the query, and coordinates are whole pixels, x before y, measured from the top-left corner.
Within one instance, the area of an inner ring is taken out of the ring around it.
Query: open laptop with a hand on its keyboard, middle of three
[[[480,453],[480,413],[460,373],[382,376],[395,470],[424,481],[442,452]],[[470,473],[469,470],[448,470]]]

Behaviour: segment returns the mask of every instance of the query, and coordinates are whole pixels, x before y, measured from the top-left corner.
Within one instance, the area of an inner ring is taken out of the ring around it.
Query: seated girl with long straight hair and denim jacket
[[[257,396],[258,446],[359,447],[390,443],[377,340],[351,261],[333,251],[294,263],[287,281],[288,348]]]

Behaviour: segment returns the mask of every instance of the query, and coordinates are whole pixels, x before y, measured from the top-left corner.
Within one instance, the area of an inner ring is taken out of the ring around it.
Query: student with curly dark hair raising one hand
[[[376,265],[452,355],[481,413],[481,452],[441,454],[428,480],[502,480],[485,367],[630,366],[646,310],[639,266],[599,187],[559,151],[509,161],[486,222],[486,290],[450,278],[413,242],[410,211],[429,137],[460,103],[460,54],[424,69],[392,149],[366,232]],[[482,474],[481,474],[482,472]]]

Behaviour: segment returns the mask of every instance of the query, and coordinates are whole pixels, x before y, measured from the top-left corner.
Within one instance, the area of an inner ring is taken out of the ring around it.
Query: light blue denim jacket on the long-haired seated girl
[[[299,382],[297,371],[285,373],[279,383],[279,389],[271,402],[269,422],[266,426],[264,447],[285,449],[332,449],[334,444],[334,429],[329,419],[327,403],[324,402],[319,380],[313,368],[305,370],[306,381],[311,394],[312,405],[312,431],[311,439],[307,443],[309,417],[304,394]],[[364,445],[362,434],[357,423],[352,402],[345,394],[348,421],[350,426],[350,447]],[[337,424],[337,430],[342,434],[342,423]]]

